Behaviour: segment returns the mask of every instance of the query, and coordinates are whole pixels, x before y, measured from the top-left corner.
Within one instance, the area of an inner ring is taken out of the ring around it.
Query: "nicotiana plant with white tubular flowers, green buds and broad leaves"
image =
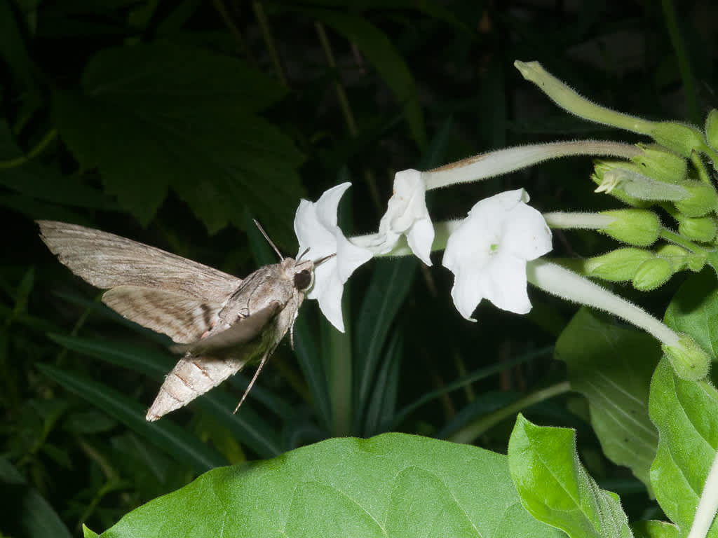
[[[430,253],[443,250],[454,305],[469,321],[483,299],[528,313],[531,283],[642,329],[648,334],[582,310],[556,356],[567,362],[570,388],[587,397],[606,455],[643,481],[670,521],[628,522],[618,496],[600,489],[580,463],[572,430],[533,425],[519,414],[508,456],[401,434],[327,440],[205,473],[103,536],[718,536],[718,392],[707,377],[718,341],[718,291],[713,282],[687,281],[661,321],[595,282],[651,291],[682,270],[709,265],[718,273],[718,111],[703,131],[646,121],[591,103],[537,62],[515,65],[561,108],[652,142],[536,144],[399,171],[378,231],[358,237],[345,237],[337,225],[349,183],[317,202],[302,200],[294,220],[299,253],[336,254],[317,268],[307,297],[344,331],[342,290],[360,265],[404,255],[432,265]],[[528,204],[527,189],[516,189],[477,201],[462,220],[437,222],[427,210],[433,189],[573,155],[600,157],[591,178],[597,194],[628,207],[541,214]],[[595,230],[620,246],[593,258],[549,260],[551,229],[559,228]],[[85,535],[95,536],[89,529]]]

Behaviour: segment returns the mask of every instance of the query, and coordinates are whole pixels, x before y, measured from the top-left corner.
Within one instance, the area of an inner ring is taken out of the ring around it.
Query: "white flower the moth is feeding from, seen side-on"
[[[354,245],[337,226],[337,207],[342,194],[351,187],[342,183],[326,191],[317,202],[302,200],[294,216],[294,233],[299,255],[309,248],[309,257],[318,260],[336,254],[314,270],[314,286],[307,298],[317,299],[325,317],[344,332],[342,292],[344,283],[356,268],[371,259],[372,253]]]

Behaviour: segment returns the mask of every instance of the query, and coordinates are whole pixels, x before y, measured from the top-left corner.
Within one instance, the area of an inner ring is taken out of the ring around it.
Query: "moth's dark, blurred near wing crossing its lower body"
[[[189,344],[172,346],[169,349],[175,353],[190,353],[192,355],[221,354],[221,351],[235,349],[256,339],[266,329],[271,319],[281,310],[279,301],[272,301],[269,306],[261,308],[251,316],[238,320],[235,324],[217,334],[210,334]],[[284,334],[282,335],[284,336]]]

